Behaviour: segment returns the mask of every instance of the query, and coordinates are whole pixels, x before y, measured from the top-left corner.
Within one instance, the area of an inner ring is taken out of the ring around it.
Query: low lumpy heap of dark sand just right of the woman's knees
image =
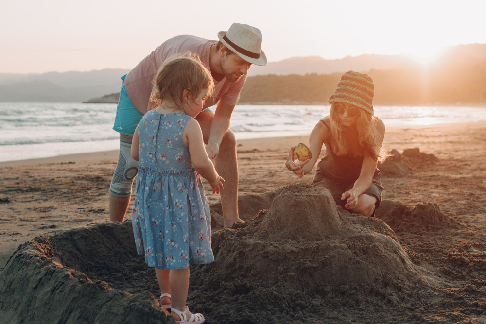
[[[437,204],[423,203],[415,207],[400,201],[383,199],[375,216],[386,222],[395,232],[415,232],[455,226],[456,222],[445,216]]]

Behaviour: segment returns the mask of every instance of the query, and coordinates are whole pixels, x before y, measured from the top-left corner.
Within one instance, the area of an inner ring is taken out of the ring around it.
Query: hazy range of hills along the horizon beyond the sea
[[[375,103],[480,102],[481,91],[486,91],[483,86],[485,61],[486,44],[444,48],[441,56],[429,66],[403,54],[347,56],[339,60],[294,57],[269,62],[265,67],[250,68],[240,103],[326,102],[340,75],[348,70],[368,71],[373,77],[377,90]],[[105,102],[111,98],[112,102],[117,102],[115,97],[100,97],[118,93],[121,76],[128,72],[126,69],[104,69],[43,74],[0,73],[0,101]]]

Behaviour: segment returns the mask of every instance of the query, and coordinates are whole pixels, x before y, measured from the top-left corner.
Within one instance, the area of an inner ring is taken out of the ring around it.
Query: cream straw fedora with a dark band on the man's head
[[[246,62],[262,66],[267,64],[267,57],[261,50],[260,29],[235,22],[227,32],[219,32],[218,38]]]

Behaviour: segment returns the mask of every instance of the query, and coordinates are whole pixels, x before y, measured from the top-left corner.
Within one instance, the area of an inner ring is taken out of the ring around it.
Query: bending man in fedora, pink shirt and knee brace
[[[199,55],[214,80],[215,94],[206,100],[195,119],[201,126],[209,158],[226,180],[225,189],[221,190],[224,226],[241,222],[237,200],[236,139],[229,129],[229,122],[240,99],[246,72],[252,64],[265,65],[267,59],[261,51],[262,38],[258,28],[234,23],[227,32],[219,32],[218,38],[219,42],[191,35],[171,38],[121,78],[123,85],[113,126],[120,133],[120,156],[110,185],[110,221],[122,222],[130,204],[132,183],[138,172],[138,162],[130,155],[132,138],[143,114],[152,109],[150,96],[157,70],[167,58],[189,51]],[[213,113],[208,107],[216,103]]]

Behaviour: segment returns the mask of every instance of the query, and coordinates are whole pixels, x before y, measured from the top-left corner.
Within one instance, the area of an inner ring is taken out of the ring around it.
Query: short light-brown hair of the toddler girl
[[[171,99],[177,108],[184,111],[182,93],[188,90],[196,99],[202,89],[208,88],[208,96],[214,92],[211,72],[201,63],[199,56],[189,52],[168,58],[158,69],[154,81],[156,90],[150,96],[157,108],[164,99]]]

